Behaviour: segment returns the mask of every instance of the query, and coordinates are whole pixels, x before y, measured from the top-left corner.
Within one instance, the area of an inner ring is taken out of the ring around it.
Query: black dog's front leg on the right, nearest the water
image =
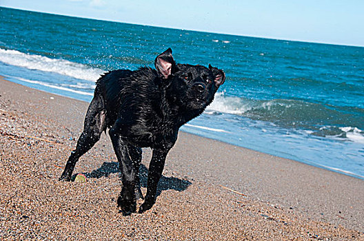
[[[139,208],[139,213],[147,211],[153,207],[156,200],[156,189],[159,179],[161,179],[165,158],[170,149],[153,149],[152,160],[150,160],[148,171],[148,189],[145,195],[145,201]]]

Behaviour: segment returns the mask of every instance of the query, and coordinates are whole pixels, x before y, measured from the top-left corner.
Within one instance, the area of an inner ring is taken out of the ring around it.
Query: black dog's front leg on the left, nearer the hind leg
[[[121,181],[123,182],[123,188],[121,189],[117,203],[123,215],[128,216],[136,211],[136,170],[130,158],[127,143],[125,143],[125,140],[123,140],[114,128],[110,129],[110,138],[114,146],[115,154],[117,154]]]

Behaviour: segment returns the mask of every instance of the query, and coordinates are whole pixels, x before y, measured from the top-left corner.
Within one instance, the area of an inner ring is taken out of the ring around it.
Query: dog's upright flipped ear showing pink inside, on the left
[[[173,74],[176,68],[176,63],[172,57],[171,48],[168,48],[168,50],[165,50],[165,52],[156,56],[154,65],[156,67],[156,72],[158,72],[161,78],[168,78],[171,74]]]

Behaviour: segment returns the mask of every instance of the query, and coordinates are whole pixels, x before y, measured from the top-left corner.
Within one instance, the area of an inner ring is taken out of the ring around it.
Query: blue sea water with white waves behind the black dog
[[[364,48],[0,8],[0,75],[83,101],[99,74],[153,67],[169,47],[227,77],[183,131],[364,179]]]

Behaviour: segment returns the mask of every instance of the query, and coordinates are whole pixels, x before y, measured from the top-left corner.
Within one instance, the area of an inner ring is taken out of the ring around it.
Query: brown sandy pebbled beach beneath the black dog
[[[88,182],[58,181],[87,107],[0,78],[0,240],[364,240],[363,180],[183,132],[154,207],[122,216],[105,134]]]

